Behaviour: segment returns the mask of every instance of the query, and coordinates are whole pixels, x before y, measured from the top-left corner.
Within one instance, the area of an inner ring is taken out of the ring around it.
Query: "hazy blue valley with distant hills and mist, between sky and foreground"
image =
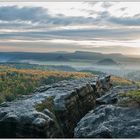
[[[140,71],[140,58],[133,56],[126,56],[122,54],[102,54],[96,52],[80,52],[76,51],[74,53],[68,52],[50,52],[50,53],[0,53],[0,62],[3,62],[3,58],[7,58],[6,62],[15,63],[27,63],[27,64],[37,64],[46,65],[49,67],[59,67],[59,70],[66,71],[81,71],[81,70],[93,70],[100,71],[107,74],[113,74],[117,76],[122,76],[125,78],[134,79],[132,73],[138,73]],[[58,60],[58,58],[61,58]],[[107,64],[101,64],[100,61],[107,59]],[[113,61],[115,63],[110,63]],[[57,69],[56,68],[56,69]],[[52,69],[52,68],[51,68]],[[55,68],[54,68],[55,69]],[[70,70],[71,69],[71,70]],[[138,79],[137,79],[138,80]]]

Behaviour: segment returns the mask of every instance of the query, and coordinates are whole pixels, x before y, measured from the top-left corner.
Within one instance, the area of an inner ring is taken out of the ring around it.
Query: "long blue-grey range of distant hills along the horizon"
[[[140,58],[130,58],[122,54],[102,54],[97,52],[48,52],[48,53],[34,53],[34,52],[0,52],[0,62],[12,62],[21,60],[35,60],[35,61],[71,61],[71,60],[95,60],[115,59],[117,61],[139,61]]]

